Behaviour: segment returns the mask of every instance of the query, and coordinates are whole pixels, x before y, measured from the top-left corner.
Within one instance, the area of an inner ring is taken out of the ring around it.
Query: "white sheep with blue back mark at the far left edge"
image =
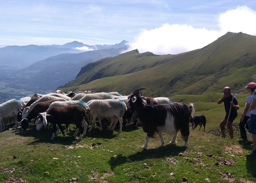
[[[16,117],[17,112],[21,110],[25,105],[26,103],[19,98],[11,99],[0,105],[0,132],[4,131],[4,119]],[[15,120],[14,123],[15,125],[13,128],[19,125],[17,120]]]

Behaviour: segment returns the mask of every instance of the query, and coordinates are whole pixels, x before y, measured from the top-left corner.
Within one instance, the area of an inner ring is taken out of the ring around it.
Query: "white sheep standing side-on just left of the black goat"
[[[117,124],[117,120],[114,122],[114,119],[117,117],[120,122],[120,128],[118,133],[122,132],[122,123],[123,123],[122,116],[124,114],[124,111],[127,110],[126,104],[122,100],[116,100],[116,99],[93,100],[89,102],[88,106],[90,108],[88,113],[93,116],[92,125],[91,125],[91,128],[88,130],[88,132],[92,130],[93,126],[95,125],[95,120],[97,117],[99,120],[100,131],[103,130],[101,125],[102,118],[111,119],[111,124],[108,129],[113,130]],[[113,122],[114,122],[114,125],[111,127]]]

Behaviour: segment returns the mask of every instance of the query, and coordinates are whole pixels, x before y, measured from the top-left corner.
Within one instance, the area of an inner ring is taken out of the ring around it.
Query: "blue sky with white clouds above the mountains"
[[[177,54],[227,31],[256,35],[256,1],[6,0],[0,25],[0,47],[126,40],[139,52]]]

